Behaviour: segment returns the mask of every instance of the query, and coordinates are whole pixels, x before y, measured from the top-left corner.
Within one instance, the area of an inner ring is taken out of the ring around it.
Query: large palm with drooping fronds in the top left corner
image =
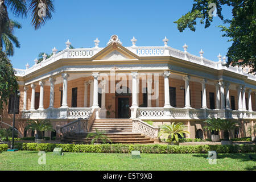
[[[47,20],[52,19],[52,13],[55,11],[53,0],[0,0],[0,38],[6,23],[9,22],[8,10],[22,18],[30,14],[31,24],[35,30],[43,26]],[[0,42],[0,50],[2,47],[2,42]]]

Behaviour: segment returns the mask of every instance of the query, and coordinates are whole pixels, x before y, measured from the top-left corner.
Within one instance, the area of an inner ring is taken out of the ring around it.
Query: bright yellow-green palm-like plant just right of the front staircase
[[[183,123],[175,124],[173,122],[171,125],[162,125],[158,137],[166,138],[168,144],[179,145],[179,135],[184,137],[184,134],[189,134],[186,129],[187,127]]]

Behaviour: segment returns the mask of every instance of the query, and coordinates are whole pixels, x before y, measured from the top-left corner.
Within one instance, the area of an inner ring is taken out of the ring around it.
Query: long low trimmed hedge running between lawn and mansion
[[[208,151],[217,153],[255,152],[256,145],[196,145],[170,146],[165,144],[55,144],[55,143],[23,143],[22,150],[51,152],[55,147],[63,148],[64,152],[94,153],[130,153],[139,150],[146,154],[201,154]]]

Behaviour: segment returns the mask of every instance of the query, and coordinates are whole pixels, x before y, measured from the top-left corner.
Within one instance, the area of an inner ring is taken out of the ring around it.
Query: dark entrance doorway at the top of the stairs
[[[118,97],[117,98],[117,118],[130,118],[130,98]]]

